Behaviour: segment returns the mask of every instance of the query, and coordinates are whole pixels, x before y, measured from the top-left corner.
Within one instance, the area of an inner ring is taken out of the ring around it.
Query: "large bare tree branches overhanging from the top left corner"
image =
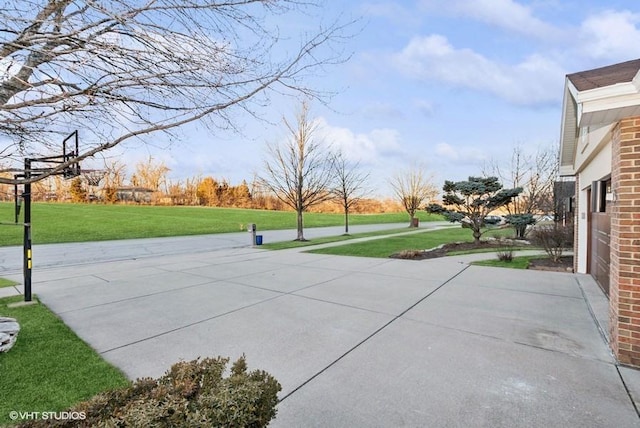
[[[77,157],[34,182],[130,139],[207,119],[236,129],[273,92],[321,93],[303,79],[347,59],[353,24],[281,33],[277,14],[321,11],[321,0],[6,0],[0,9],[0,158],[58,154],[81,127]],[[312,22],[312,21],[311,21]],[[6,137],[2,139],[1,137]]]

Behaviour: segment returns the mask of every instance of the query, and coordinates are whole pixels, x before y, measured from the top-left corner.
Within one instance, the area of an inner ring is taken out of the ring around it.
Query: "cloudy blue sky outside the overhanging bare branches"
[[[329,107],[313,104],[312,114],[322,137],[371,173],[377,196],[390,195],[389,178],[411,165],[422,165],[441,187],[479,175],[488,161],[507,166],[515,145],[556,146],[565,75],[640,57],[637,1],[327,4],[327,20],[361,17],[363,29],[346,41],[351,59],[314,78],[314,86],[337,94]],[[260,112],[269,121],[238,117],[241,135],[196,125],[171,145],[160,138],[111,155],[131,162],[151,154],[174,181],[197,174],[250,181],[266,144],[286,135],[280,119],[297,108],[274,97]]]

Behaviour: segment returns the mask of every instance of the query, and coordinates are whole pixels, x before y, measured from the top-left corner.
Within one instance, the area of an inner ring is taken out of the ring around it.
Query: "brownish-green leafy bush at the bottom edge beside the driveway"
[[[265,427],[276,415],[278,381],[244,356],[223,377],[228,358],[174,364],[159,379],[96,395],[61,415],[21,427]]]

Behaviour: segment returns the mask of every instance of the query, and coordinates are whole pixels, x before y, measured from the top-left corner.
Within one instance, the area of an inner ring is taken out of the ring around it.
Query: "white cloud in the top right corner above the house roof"
[[[640,56],[640,14],[604,11],[585,19],[580,27],[581,53],[594,59],[623,61]]]

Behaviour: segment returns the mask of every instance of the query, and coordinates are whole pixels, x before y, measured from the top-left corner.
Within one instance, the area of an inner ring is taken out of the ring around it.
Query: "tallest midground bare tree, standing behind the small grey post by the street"
[[[303,213],[331,199],[333,156],[323,141],[314,138],[317,122],[303,102],[295,124],[284,119],[289,137],[282,145],[269,145],[261,185],[297,213],[297,241],[304,241]]]

